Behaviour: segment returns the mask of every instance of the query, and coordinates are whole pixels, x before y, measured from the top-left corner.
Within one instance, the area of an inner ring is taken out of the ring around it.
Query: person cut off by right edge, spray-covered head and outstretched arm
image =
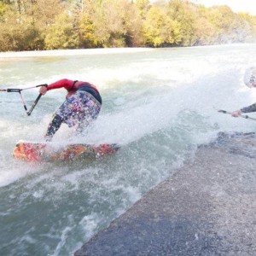
[[[244,74],[244,83],[249,87],[253,88],[256,87],[256,67],[249,67],[247,71]],[[256,103],[253,103],[252,105],[237,109],[236,111],[232,112],[231,115],[234,117],[241,116],[241,113],[250,113],[250,112],[256,112]]]

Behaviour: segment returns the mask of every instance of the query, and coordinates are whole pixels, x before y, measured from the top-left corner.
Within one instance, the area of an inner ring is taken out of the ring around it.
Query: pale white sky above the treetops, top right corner
[[[197,4],[203,4],[206,7],[212,5],[227,5],[233,12],[243,12],[250,15],[256,15],[256,1],[255,0],[191,0]]]

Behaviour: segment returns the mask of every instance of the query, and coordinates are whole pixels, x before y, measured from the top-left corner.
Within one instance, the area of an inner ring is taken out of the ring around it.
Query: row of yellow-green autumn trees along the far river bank
[[[170,0],[1,0],[0,51],[252,43],[256,16]]]

